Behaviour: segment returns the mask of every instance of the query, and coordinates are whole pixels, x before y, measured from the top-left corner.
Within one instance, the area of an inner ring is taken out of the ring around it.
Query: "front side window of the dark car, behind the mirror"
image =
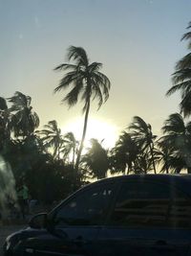
[[[114,195],[114,184],[87,189],[63,204],[54,216],[56,226],[101,223]]]

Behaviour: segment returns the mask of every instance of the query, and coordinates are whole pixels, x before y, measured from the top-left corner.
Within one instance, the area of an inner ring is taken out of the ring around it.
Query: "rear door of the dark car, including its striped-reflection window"
[[[190,198],[174,186],[144,178],[119,187],[110,218],[98,235],[100,255],[186,255],[191,243]]]

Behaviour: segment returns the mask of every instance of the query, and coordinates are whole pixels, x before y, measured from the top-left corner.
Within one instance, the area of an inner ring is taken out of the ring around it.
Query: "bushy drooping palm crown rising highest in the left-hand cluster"
[[[32,110],[32,98],[16,91],[8,101],[11,103],[11,129],[14,135],[23,138],[32,135],[39,126],[38,115]]]

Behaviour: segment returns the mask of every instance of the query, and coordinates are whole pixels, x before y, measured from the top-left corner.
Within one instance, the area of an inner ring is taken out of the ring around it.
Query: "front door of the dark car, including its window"
[[[53,230],[34,238],[34,255],[97,255],[97,234],[115,192],[104,183],[77,192],[53,210]],[[32,251],[28,248],[28,252]]]

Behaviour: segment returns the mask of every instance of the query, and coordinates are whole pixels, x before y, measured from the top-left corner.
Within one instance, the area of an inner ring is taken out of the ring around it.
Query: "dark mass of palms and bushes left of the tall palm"
[[[54,120],[38,130],[39,117],[31,102],[19,91],[9,99],[0,97],[0,154],[11,164],[16,184],[27,181],[32,198],[46,199],[50,188],[56,198],[63,189],[66,194],[73,190],[70,170],[78,144],[72,132],[61,134]]]

